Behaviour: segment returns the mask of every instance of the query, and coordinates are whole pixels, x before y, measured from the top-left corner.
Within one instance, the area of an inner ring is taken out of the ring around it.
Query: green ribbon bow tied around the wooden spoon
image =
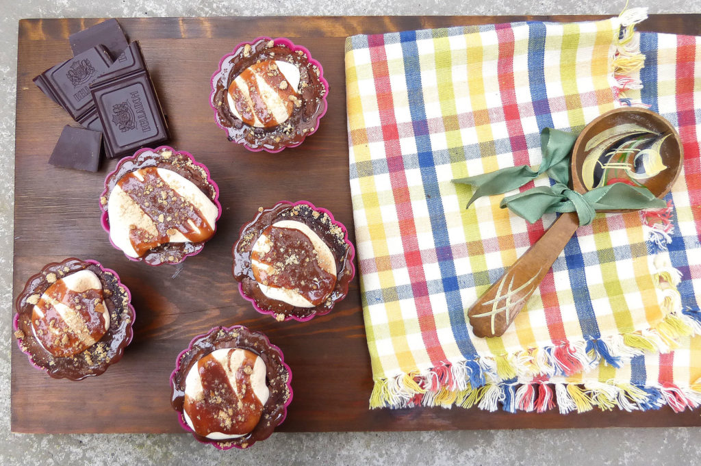
[[[508,167],[474,177],[454,179],[454,183],[476,186],[467,207],[482,196],[503,194],[547,174],[557,181],[553,186],[539,186],[501,200],[501,208],[508,207],[519,217],[534,223],[547,212],[577,212],[580,225],[594,220],[597,210],[641,210],[666,207],[665,200],[655,198],[647,188],[614,183],[580,194],[569,189],[569,154],[577,135],[545,128],[540,133],[543,162],[538,170],[528,165]],[[466,207],[466,208],[467,208]]]

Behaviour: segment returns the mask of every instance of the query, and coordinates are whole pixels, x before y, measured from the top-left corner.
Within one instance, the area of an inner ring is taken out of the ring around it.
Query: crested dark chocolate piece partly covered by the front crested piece
[[[107,48],[93,47],[47,69],[34,78],[34,83],[77,121],[93,107],[90,84],[107,71],[110,64]]]

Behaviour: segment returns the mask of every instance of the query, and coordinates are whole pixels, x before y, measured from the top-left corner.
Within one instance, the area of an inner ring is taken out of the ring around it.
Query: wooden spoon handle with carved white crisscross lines
[[[536,244],[472,305],[468,317],[475,335],[484,338],[504,334],[578,226],[576,213],[560,215]]]

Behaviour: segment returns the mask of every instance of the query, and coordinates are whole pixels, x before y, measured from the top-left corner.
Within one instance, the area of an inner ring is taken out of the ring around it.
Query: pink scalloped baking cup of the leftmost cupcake
[[[90,264],[93,264],[95,266],[100,267],[100,270],[102,270],[102,272],[111,273],[112,275],[114,275],[114,278],[117,280],[117,286],[123,288],[124,291],[126,292],[128,300],[129,300],[129,304],[127,306],[127,313],[128,313],[128,315],[130,315],[131,320],[126,328],[125,338],[118,345],[116,353],[114,354],[114,356],[111,357],[109,364],[107,364],[107,366],[104,368],[104,371],[93,373],[93,374],[85,374],[84,376],[79,377],[79,378],[70,378],[70,377],[58,376],[57,374],[51,374],[46,368],[39,366],[39,364],[36,364],[36,362],[34,362],[34,355],[32,354],[32,352],[25,351],[22,349],[23,338],[17,338],[17,344],[20,347],[20,351],[22,351],[23,353],[25,353],[25,355],[27,355],[27,359],[29,359],[29,362],[32,364],[32,366],[34,366],[34,369],[39,369],[39,371],[46,372],[46,374],[48,374],[48,376],[53,377],[53,378],[67,378],[71,381],[81,381],[84,378],[94,377],[94,376],[99,376],[100,374],[104,374],[104,372],[107,371],[107,369],[109,369],[109,366],[111,366],[112,364],[116,364],[117,362],[119,362],[122,359],[122,356],[124,355],[124,348],[126,348],[129,345],[129,343],[131,343],[132,338],[134,338],[133,325],[134,325],[134,320],[136,319],[136,310],[134,309],[134,306],[132,306],[132,304],[131,304],[131,292],[129,291],[128,287],[126,287],[121,282],[121,280],[119,279],[119,275],[117,275],[117,273],[114,270],[112,270],[111,268],[104,268],[100,262],[95,261],[93,259],[88,259],[87,261],[83,261],[82,259],[78,259],[76,257],[69,257],[67,259],[63,259],[60,262],[47,263],[46,266],[43,266],[43,268],[41,268],[39,273],[35,273],[31,277],[29,277],[29,280],[27,280],[27,283],[25,284],[25,288],[22,289],[22,292],[17,296],[17,299],[15,300],[15,310],[20,306],[20,301],[22,300],[22,297],[27,295],[27,294],[30,294],[29,284],[31,282],[33,282],[36,278],[39,278],[42,275],[42,273],[44,272],[44,270],[46,270],[50,267],[53,267],[53,266],[59,266],[60,264],[66,263],[68,261],[81,261],[83,263],[90,263]],[[20,313],[15,312],[15,318],[13,319],[13,322],[12,322],[13,332],[18,331],[20,329],[19,321],[20,321]]]

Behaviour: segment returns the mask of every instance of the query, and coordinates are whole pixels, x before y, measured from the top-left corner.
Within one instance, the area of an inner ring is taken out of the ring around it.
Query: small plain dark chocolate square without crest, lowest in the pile
[[[97,172],[101,146],[102,133],[66,125],[48,163],[57,167]]]

